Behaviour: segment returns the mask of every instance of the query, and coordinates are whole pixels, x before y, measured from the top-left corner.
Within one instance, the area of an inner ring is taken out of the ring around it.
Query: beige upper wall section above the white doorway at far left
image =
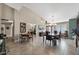
[[[2,19],[13,20],[14,19],[13,18],[13,16],[14,16],[13,12],[14,12],[13,8],[11,8],[11,7],[9,7],[5,4],[2,5]]]

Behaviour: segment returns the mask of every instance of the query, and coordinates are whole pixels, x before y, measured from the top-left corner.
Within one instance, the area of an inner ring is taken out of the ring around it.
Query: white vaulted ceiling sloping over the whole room
[[[7,5],[20,10],[25,6],[49,22],[63,22],[77,16],[78,3],[7,3]]]

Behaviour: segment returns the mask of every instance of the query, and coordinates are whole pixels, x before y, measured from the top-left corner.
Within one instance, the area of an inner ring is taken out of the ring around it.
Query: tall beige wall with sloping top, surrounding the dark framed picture
[[[41,17],[28,8],[21,8],[20,11],[15,10],[15,35],[20,33],[20,22],[26,23],[27,31],[31,28],[28,23],[41,25]]]

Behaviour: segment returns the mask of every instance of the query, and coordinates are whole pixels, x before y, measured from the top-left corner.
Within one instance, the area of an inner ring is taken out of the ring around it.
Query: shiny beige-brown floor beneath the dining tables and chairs
[[[12,41],[6,42],[9,49],[8,55],[75,55],[77,49],[75,41],[70,39],[62,39],[57,41],[57,46],[50,46],[47,41],[43,44],[42,37],[39,39],[30,40],[25,43],[14,43]]]

